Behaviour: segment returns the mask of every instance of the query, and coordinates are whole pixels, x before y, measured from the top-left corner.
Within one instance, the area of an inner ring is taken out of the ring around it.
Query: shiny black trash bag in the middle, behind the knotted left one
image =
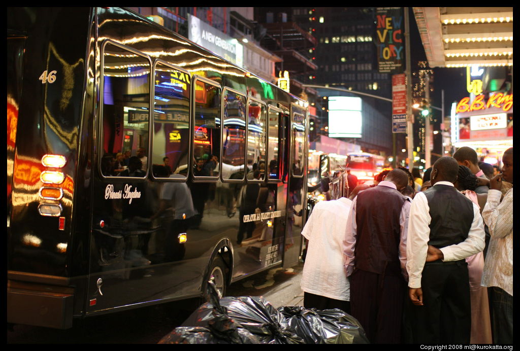
[[[289,329],[287,320],[261,297],[227,296],[219,299],[216,290],[206,290],[206,302],[186,319],[181,327],[207,327],[215,319],[214,310],[236,322],[237,329],[252,333],[262,344],[303,344],[301,337]],[[225,312],[224,312],[225,311]]]

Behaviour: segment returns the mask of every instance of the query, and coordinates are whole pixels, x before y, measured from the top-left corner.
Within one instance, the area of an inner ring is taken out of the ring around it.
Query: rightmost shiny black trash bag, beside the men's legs
[[[279,307],[289,327],[306,344],[368,344],[365,330],[359,322],[341,309]]]

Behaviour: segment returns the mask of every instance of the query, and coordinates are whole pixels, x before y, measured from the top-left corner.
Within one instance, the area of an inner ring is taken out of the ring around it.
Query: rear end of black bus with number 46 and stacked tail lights
[[[85,272],[71,262],[86,257],[88,244],[76,235],[72,209],[87,189],[76,169],[92,13],[8,8],[9,322],[68,328],[72,305],[81,308],[70,277]]]

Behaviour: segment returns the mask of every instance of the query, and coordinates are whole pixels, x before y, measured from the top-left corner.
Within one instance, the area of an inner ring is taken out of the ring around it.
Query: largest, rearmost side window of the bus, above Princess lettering
[[[136,50],[112,43],[103,47],[102,58],[101,174],[145,177],[149,165],[150,61]],[[121,159],[119,153],[129,157]]]

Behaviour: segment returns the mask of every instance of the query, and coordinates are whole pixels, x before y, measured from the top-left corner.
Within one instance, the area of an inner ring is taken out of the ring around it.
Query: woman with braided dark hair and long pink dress
[[[459,166],[457,181],[453,185],[477,206],[477,194],[474,192],[479,185],[479,180],[466,166]],[[482,207],[480,212],[482,212]],[[491,320],[489,315],[489,303],[487,288],[480,286],[484,272],[484,254],[479,252],[466,258],[467,271],[470,276],[471,298],[471,344],[490,344]]]

